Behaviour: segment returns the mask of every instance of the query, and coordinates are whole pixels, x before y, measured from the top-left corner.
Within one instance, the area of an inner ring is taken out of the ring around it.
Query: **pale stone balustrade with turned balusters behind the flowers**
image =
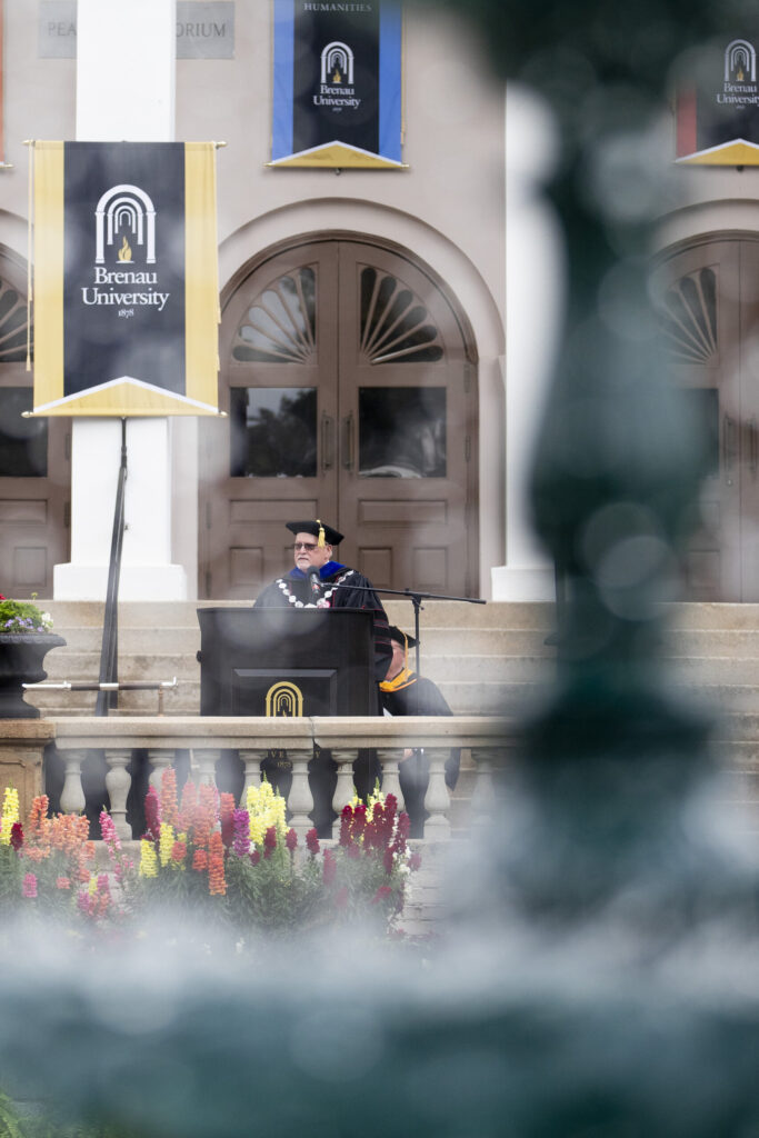
[[[313,798],[307,764],[314,744],[329,748],[338,764],[333,809],[337,814],[354,795],[352,764],[358,749],[374,748],[382,767],[382,789],[393,792],[401,803],[398,764],[405,748],[423,748],[429,759],[430,778],[424,799],[429,814],[424,826],[428,840],[445,840],[451,834],[451,795],[445,783],[444,764],[451,748],[469,749],[476,783],[472,811],[480,816],[493,803],[493,772],[506,765],[514,745],[513,724],[501,717],[452,716],[430,718],[323,717],[51,717],[46,724],[46,740],[55,740],[64,762],[65,776],[60,809],[79,814],[85,807],[82,766],[92,751],[102,751],[107,764],[106,789],[110,815],[117,833],[132,838],[126,822],[126,800],[131,787],[129,765],[135,750],[147,751],[150,783],[160,784],[162,772],[174,764],[178,752],[189,752],[196,782],[214,782],[216,764],[224,751],[237,751],[245,769],[242,794],[261,781],[261,762],[271,750],[287,751],[292,762],[292,785],[288,795],[291,825],[303,836],[311,827]],[[0,739],[6,750],[14,749],[15,720],[0,720]]]

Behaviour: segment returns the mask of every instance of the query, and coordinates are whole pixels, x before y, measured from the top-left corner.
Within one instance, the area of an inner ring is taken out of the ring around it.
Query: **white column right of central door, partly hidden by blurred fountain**
[[[514,84],[506,94],[506,563],[492,569],[494,601],[552,601],[554,572],[528,512],[535,437],[555,364],[563,265],[542,184],[555,162],[548,113]]]

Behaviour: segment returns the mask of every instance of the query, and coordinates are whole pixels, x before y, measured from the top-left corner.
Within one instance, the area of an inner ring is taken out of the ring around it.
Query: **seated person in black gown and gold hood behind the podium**
[[[380,684],[380,699],[386,715],[453,715],[439,687],[418,676],[409,668],[409,649],[415,648],[418,641],[406,636],[399,628],[389,629],[393,645],[393,659],[387,676]],[[454,748],[445,762],[445,782],[453,790],[459,778],[461,750]],[[405,801],[406,813],[411,819],[411,836],[423,835],[424,794],[429,783],[429,762],[421,748],[404,751],[398,768],[401,790]]]

